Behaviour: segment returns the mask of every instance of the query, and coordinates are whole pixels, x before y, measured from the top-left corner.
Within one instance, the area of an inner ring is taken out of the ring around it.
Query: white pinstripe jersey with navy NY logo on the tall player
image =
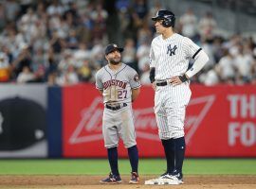
[[[150,67],[155,67],[155,80],[183,75],[199,49],[192,40],[177,33],[165,40],[162,35],[155,37],[150,51]]]

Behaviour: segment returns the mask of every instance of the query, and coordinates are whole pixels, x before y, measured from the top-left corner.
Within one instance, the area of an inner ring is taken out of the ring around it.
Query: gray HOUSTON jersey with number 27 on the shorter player
[[[103,103],[130,103],[132,102],[131,90],[140,86],[137,72],[124,63],[117,71],[105,65],[96,74],[96,88],[103,91]]]

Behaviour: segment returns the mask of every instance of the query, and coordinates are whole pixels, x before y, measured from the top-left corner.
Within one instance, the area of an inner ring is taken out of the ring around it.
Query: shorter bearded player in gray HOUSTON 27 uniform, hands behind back
[[[129,183],[138,183],[138,153],[132,102],[137,98],[141,85],[137,72],[121,62],[122,51],[123,48],[117,44],[107,45],[105,59],[108,64],[96,74],[96,88],[103,95],[102,133],[111,168],[109,177],[101,180],[101,183],[121,182],[118,167],[119,137],[128,149],[132,166]]]

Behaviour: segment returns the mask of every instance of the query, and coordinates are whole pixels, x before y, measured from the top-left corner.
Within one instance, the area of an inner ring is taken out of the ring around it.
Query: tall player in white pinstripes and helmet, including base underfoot
[[[155,89],[155,117],[164,147],[167,171],[146,184],[183,183],[185,156],[184,120],[191,98],[190,78],[209,60],[208,55],[187,37],[174,33],[172,11],[159,10],[152,18],[159,35],[151,44],[150,79]],[[189,60],[193,59],[192,67]]]

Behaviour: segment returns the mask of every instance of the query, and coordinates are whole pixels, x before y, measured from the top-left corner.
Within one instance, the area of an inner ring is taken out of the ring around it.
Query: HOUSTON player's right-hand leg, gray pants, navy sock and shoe
[[[120,115],[119,134],[124,146],[127,148],[132,167],[132,178],[129,183],[138,183],[138,150],[132,107],[128,106],[127,108],[121,110]]]

